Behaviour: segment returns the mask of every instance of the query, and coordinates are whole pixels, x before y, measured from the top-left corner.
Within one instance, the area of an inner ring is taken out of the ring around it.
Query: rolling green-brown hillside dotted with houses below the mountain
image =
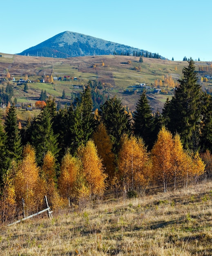
[[[134,56],[82,56],[73,58],[45,58],[1,54],[0,57],[0,88],[7,83],[13,85],[13,98],[17,102],[34,104],[40,97],[41,90],[46,90],[47,95],[55,97],[56,102],[60,99],[62,105],[73,101],[78,92],[83,92],[83,86],[88,81],[101,82],[101,92],[108,94],[109,97],[117,96],[122,100],[123,105],[135,110],[136,103],[140,97],[142,89],[140,83],[147,86],[147,96],[153,112],[161,111],[163,103],[167,97],[171,98],[173,88],[161,87],[163,93],[155,93],[155,80],[165,81],[165,78],[172,77],[176,83],[181,78],[182,68],[187,66],[187,61],[168,61],[154,58],[143,58],[143,63],[139,62],[139,57]],[[201,71],[199,71],[201,70]],[[196,71],[199,75],[211,74],[211,63],[196,62]],[[10,74],[9,81],[6,78],[7,72]],[[28,91],[24,92],[24,85],[18,85],[16,81],[25,79],[28,83]],[[38,79],[45,76],[61,77],[69,76],[69,81],[54,80],[53,83],[40,83]],[[13,78],[15,82],[13,82]],[[210,92],[212,83],[210,79],[202,83],[203,90],[207,88]],[[164,85],[164,84],[163,84]],[[79,86],[76,88],[75,86]],[[65,90],[66,99],[61,99],[62,92]]]

